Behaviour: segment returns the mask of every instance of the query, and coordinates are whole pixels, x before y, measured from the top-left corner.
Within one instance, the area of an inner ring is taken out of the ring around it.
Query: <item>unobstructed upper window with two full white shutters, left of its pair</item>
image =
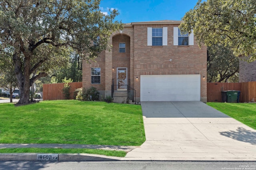
[[[148,27],[148,46],[167,45],[167,27],[152,28]]]

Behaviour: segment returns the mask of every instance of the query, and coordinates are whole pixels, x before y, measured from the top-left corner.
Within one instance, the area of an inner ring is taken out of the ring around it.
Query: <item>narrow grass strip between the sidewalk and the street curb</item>
[[[124,157],[126,152],[99,149],[52,149],[52,148],[8,148],[0,149],[0,153],[88,153],[106,156]]]

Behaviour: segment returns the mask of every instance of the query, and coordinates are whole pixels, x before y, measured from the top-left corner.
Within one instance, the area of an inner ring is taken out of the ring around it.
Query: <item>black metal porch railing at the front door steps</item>
[[[112,79],[111,96],[114,97],[127,97],[132,102],[136,102],[136,90],[129,85],[114,85],[114,79]]]

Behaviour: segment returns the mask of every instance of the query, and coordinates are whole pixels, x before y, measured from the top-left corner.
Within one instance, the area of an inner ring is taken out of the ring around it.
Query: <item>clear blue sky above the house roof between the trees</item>
[[[122,23],[181,20],[186,12],[193,9],[198,0],[102,0],[100,9],[116,9],[120,13],[116,20]]]

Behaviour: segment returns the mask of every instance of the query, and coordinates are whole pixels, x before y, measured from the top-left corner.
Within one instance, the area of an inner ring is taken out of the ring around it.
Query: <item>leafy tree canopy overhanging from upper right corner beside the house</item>
[[[256,59],[255,0],[199,0],[182,20],[181,31],[193,29],[200,45],[220,43],[230,47],[235,56]]]

